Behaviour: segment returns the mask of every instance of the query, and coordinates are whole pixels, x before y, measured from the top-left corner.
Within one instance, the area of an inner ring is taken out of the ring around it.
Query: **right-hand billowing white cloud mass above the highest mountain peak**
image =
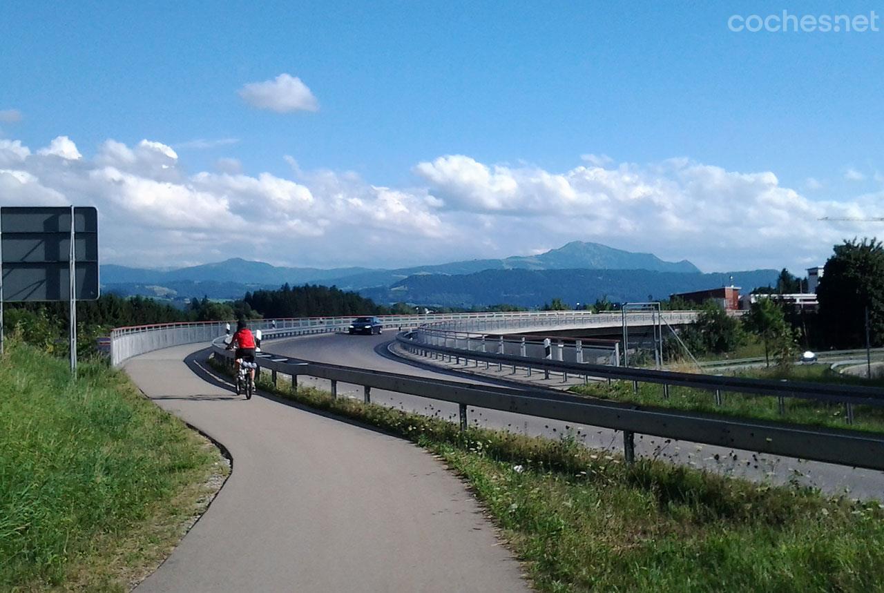
[[[442,156],[415,172],[444,201],[444,220],[486,217],[484,235],[496,236],[505,253],[525,253],[519,244],[526,235],[550,244],[582,239],[687,258],[705,270],[781,268],[802,255],[823,257],[843,229],[818,218],[856,216],[847,213],[873,209],[880,199],[810,201],[772,172],[683,158],[551,172]],[[507,239],[514,229],[519,239]]]

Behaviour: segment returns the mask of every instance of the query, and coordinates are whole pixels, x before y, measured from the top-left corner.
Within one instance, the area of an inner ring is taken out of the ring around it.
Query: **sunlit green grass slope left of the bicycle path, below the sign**
[[[102,363],[0,357],[0,590],[127,590],[202,513],[227,466]],[[214,485],[213,485],[214,484]]]

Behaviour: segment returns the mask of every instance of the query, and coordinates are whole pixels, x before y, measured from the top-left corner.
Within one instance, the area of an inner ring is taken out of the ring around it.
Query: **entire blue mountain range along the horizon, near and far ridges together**
[[[591,270],[604,270],[604,273],[597,271],[594,275],[587,275]],[[743,282],[752,288],[768,285],[775,282],[777,271],[703,274],[687,260],[665,262],[652,254],[573,241],[537,255],[393,270],[286,268],[234,258],[177,270],[144,270],[108,264],[102,266],[101,274],[104,292],[170,299],[203,295],[214,299],[238,299],[247,291],[278,288],[288,283],[336,285],[358,291],[378,302],[406,300],[437,306],[508,302],[531,307],[553,297],[567,300],[563,291],[568,286],[573,287],[575,282],[582,286],[582,299],[577,300],[597,298],[591,294],[607,295],[612,300],[621,294],[621,300],[644,300],[648,294],[665,297],[669,292],[720,286],[722,278],[729,281],[730,276],[734,276],[735,282]]]

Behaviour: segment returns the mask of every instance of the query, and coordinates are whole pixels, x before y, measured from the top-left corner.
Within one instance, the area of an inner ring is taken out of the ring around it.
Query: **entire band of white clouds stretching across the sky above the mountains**
[[[233,255],[304,266],[415,265],[579,239],[686,258],[704,270],[799,269],[870,228],[818,218],[877,216],[884,200],[878,193],[812,201],[773,172],[687,158],[547,171],[446,155],[417,163],[415,186],[392,187],[353,171],[305,171],[291,157],[285,176],[244,174],[232,158],[219,160],[217,172],[188,173],[160,141],[108,140],[94,157],[74,158],[73,142],[59,139],[37,154],[0,140],[0,203],[95,205],[103,257],[132,265]]]

